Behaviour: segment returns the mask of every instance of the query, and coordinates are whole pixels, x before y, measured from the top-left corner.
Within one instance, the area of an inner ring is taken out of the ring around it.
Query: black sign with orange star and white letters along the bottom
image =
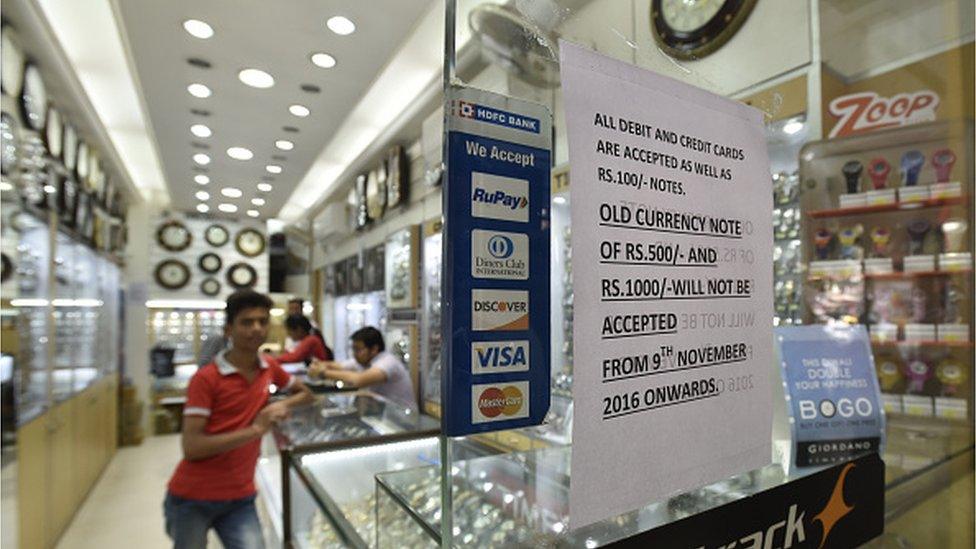
[[[884,530],[878,454],[619,541],[618,547],[857,547]]]

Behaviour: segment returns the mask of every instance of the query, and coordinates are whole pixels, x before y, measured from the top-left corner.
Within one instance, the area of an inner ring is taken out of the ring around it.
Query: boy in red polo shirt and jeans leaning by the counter
[[[176,549],[206,549],[213,528],[226,549],[264,547],[254,508],[261,437],[288,411],[312,400],[299,380],[258,349],[272,302],[242,290],[227,298],[229,347],[190,380],[183,408],[183,460],[169,481],[166,533]],[[271,384],[291,396],[268,404]]]

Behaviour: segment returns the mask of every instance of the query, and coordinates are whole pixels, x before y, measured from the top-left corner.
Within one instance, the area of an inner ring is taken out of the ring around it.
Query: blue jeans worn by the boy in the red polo
[[[227,501],[186,499],[166,493],[166,534],[175,549],[206,549],[213,528],[225,549],[263,549],[254,496]]]

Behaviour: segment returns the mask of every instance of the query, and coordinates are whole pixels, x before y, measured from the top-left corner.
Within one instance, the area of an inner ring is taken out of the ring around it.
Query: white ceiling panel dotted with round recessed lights
[[[274,217],[431,0],[126,0],[171,207]]]

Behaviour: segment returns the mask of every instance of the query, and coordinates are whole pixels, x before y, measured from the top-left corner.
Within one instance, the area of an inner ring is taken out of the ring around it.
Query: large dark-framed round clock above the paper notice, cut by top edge
[[[756,0],[651,0],[654,40],[668,55],[694,60],[735,36]]]

